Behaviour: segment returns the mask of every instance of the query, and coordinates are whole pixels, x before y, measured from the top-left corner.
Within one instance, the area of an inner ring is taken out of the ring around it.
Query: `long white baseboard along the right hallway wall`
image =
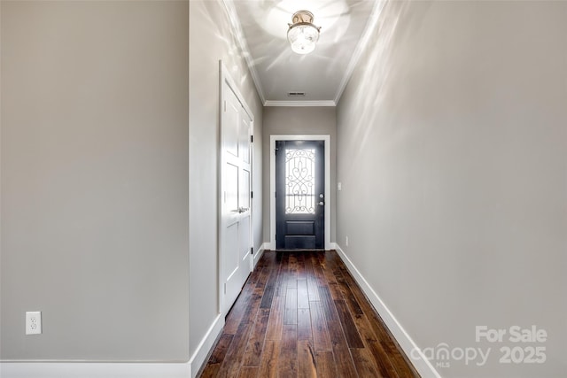
[[[340,258],[345,262],[346,267],[350,274],[353,275],[354,280],[359,284],[366,297],[369,298],[370,303],[374,305],[374,308],[384,320],[384,323],[392,336],[400,344],[401,349],[406,353],[408,359],[411,359],[412,363],[416,367],[416,370],[423,378],[441,378],[441,375],[435,370],[435,367],[431,365],[431,362],[423,355],[423,352],[417,347],[416,343],[409,337],[408,333],[405,331],[401,324],[393,316],[392,312],[384,305],[384,302],[380,297],[378,297],[376,291],[372,289],[369,282],[362,276],[361,272],[354,266],[353,262],[346,256],[345,251],[343,251],[338,243],[335,243],[335,251],[337,251]],[[419,359],[413,358],[416,354],[419,354]]]

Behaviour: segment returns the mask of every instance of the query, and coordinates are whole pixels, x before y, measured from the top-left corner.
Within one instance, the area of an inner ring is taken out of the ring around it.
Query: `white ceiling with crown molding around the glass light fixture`
[[[224,0],[256,89],[265,105],[338,102],[368,35],[379,0]],[[299,55],[287,41],[291,15],[307,10],[321,27],[315,51]],[[305,92],[292,97],[288,92]]]

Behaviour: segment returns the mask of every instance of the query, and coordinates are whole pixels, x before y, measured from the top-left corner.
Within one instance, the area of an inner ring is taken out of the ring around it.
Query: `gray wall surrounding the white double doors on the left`
[[[203,36],[206,35],[206,38]],[[219,1],[190,1],[190,351],[219,313],[217,274],[217,167],[219,155],[219,59],[239,85],[262,140],[262,106],[229,18]],[[261,143],[254,143],[252,232],[254,253],[262,241]]]

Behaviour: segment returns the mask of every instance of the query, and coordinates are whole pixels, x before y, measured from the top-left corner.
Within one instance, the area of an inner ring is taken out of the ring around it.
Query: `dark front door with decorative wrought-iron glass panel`
[[[276,141],[276,249],[322,250],[323,141]]]

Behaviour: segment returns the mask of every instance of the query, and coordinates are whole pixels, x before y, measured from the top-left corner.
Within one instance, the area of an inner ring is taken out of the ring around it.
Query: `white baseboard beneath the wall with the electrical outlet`
[[[187,362],[3,362],[2,378],[187,378]]]

